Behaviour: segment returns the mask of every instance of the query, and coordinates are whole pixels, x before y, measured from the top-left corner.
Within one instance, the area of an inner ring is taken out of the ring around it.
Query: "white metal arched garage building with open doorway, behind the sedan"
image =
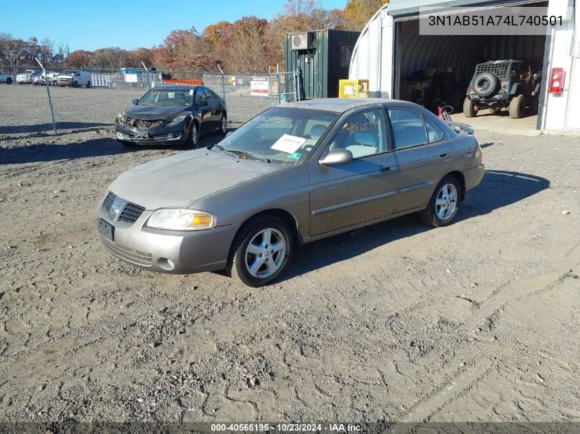
[[[564,20],[548,27],[545,35],[419,34],[419,18],[424,16],[420,8],[461,6],[476,12],[513,5],[547,6],[548,14]],[[580,129],[580,0],[391,0],[362,30],[349,78],[369,80],[371,97],[404,99],[404,77],[421,69],[448,67],[459,83],[457,95],[448,97],[461,99],[475,64],[500,59],[526,60],[542,70],[537,129]],[[548,91],[555,68],[564,70],[560,93]]]

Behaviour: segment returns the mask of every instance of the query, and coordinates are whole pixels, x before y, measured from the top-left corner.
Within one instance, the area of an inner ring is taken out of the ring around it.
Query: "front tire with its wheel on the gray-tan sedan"
[[[264,239],[268,233],[270,239]],[[272,249],[272,243],[279,250]],[[253,245],[255,253],[248,251],[250,244]],[[246,224],[235,237],[231,248],[233,257],[226,274],[237,275],[248,287],[268,285],[290,263],[293,249],[292,232],[283,220],[273,215],[257,217]],[[257,256],[258,251],[262,256]],[[254,265],[253,271],[251,265]]]

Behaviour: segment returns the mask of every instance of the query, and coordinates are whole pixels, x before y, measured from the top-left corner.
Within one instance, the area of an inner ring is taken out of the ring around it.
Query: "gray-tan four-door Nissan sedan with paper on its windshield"
[[[105,248],[167,273],[275,280],[303,243],[418,212],[446,226],[485,167],[467,125],[416,104],[270,108],[219,145],[122,173],[97,206]]]

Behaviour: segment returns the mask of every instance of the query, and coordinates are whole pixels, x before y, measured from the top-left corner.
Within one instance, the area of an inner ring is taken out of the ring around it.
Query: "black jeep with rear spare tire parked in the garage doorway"
[[[480,63],[469,82],[463,114],[474,117],[483,108],[498,113],[507,107],[509,116],[518,119],[528,107],[537,110],[541,76],[542,71],[532,74],[530,65],[520,60]]]

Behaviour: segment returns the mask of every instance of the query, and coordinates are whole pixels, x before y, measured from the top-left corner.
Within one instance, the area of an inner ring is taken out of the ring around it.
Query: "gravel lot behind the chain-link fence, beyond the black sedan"
[[[219,89],[216,89],[220,93]],[[244,96],[249,88],[226,97],[229,121],[243,123],[270,107],[270,98]],[[145,89],[51,87],[50,95],[59,132],[90,130],[113,125],[115,117],[140,98]],[[0,136],[25,138],[30,132],[53,130],[45,86],[0,84]]]

